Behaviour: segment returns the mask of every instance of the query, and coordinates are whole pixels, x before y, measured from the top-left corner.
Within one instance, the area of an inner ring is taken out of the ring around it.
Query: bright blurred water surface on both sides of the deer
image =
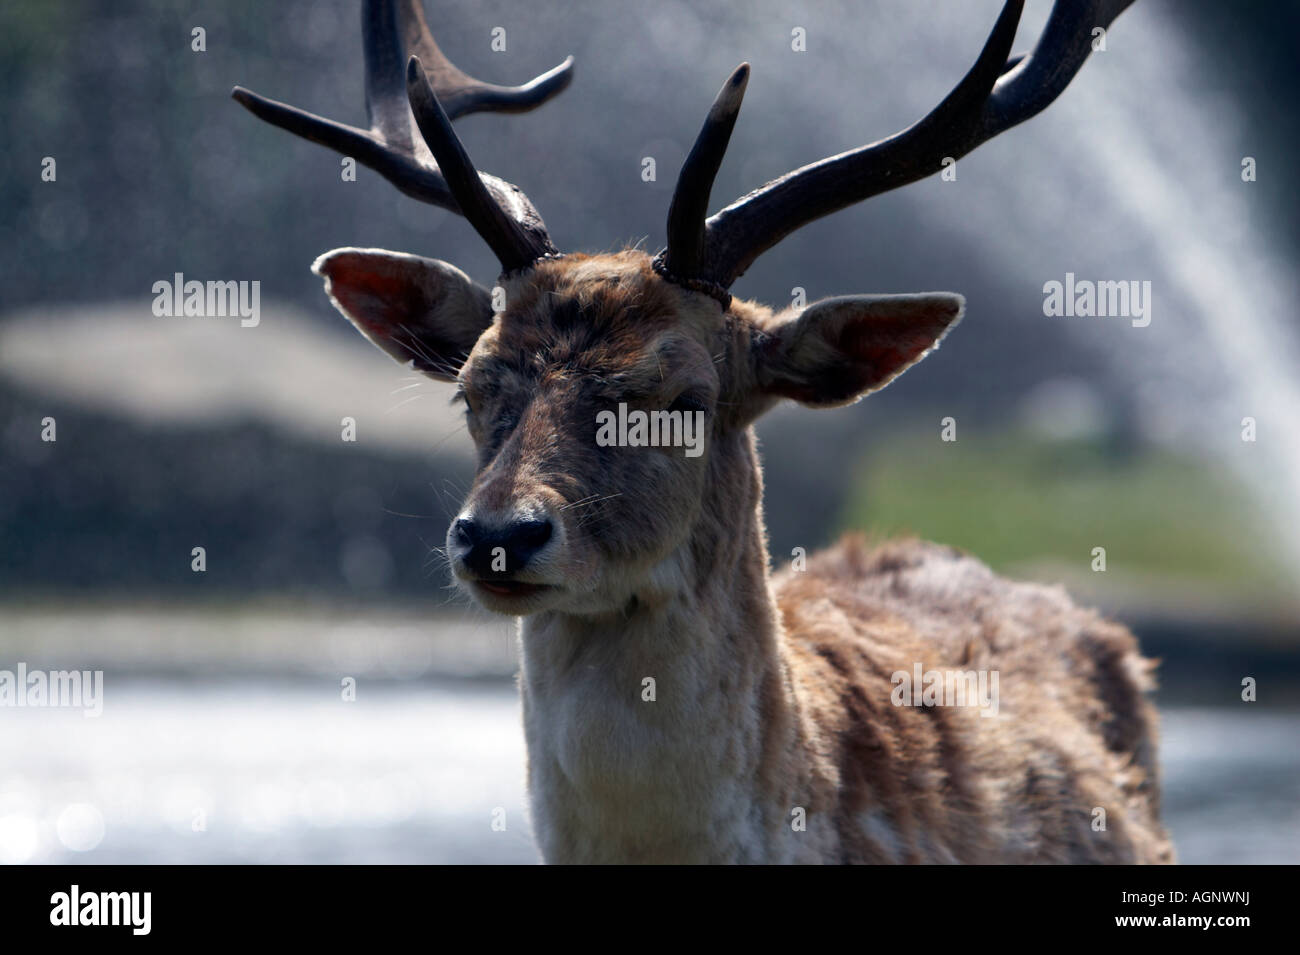
[[[4,861],[538,860],[506,681],[361,681],[344,703],[332,680],[116,680],[99,719],[0,725]],[[1164,712],[1180,861],[1300,860],[1297,730],[1296,712]]]

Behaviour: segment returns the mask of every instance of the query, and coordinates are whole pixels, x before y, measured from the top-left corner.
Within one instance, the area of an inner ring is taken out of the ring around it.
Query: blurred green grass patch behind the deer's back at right
[[[1273,531],[1231,476],[1166,451],[1024,435],[883,440],[858,466],[845,529],[916,534],[998,569],[1065,561],[1273,590]]]

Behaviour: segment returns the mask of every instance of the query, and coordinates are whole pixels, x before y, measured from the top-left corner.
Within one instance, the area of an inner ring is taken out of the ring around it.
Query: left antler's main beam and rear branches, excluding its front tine
[[[493,86],[474,79],[456,69],[438,48],[420,0],[365,0],[361,8],[361,31],[365,48],[365,105],[370,122],[368,130],[326,120],[243,87],[237,86],[231,95],[257,118],[343,156],[351,156],[412,199],[455,213],[462,213],[459,196],[448,186],[443,170],[419,134],[408,103],[407,51],[425,57],[430,64],[430,94],[445,101],[441,108],[451,118],[473,112],[520,113],[533,109],[563,91],[573,77],[573,57],[568,57],[555,69],[517,87]],[[456,146],[459,148],[459,140]],[[460,152],[464,153],[463,149]],[[529,247],[541,249],[538,255],[555,252],[542,217],[519,187],[486,173],[478,173],[477,177],[490,201],[515,221],[514,231],[524,236]],[[493,240],[489,244],[494,251],[507,247],[511,249],[510,264],[502,261],[507,272],[521,268],[516,261],[519,243],[515,239],[504,243]]]

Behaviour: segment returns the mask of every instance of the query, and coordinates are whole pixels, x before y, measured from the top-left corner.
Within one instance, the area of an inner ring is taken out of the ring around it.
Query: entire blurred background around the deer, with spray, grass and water
[[[460,602],[436,551],[472,476],[450,388],[407,387],[308,272],[337,246],[484,282],[495,262],[464,221],[364,168],[343,181],[229,97],[364,125],[358,5],[0,6],[0,669],[105,673],[99,719],[0,709],[0,861],[537,860],[514,628]],[[754,71],[715,208],[919,118],[1000,6],[425,3],[473,75],[576,56],[558,100],[458,129],[562,248],[651,252],[737,62]],[[1030,0],[1018,49],[1049,6]],[[966,295],[884,392],[762,422],[774,563],[915,533],[1130,624],[1162,659],[1188,863],[1300,858],[1296,35],[1284,0],[1138,0],[956,181],[816,222],[734,288]],[[176,273],[259,281],[260,324],[156,317]],[[1046,317],[1066,273],[1149,281],[1150,324]]]

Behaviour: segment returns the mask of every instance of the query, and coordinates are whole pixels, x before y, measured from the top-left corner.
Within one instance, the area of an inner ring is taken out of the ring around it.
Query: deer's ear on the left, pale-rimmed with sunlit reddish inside
[[[403,364],[439,381],[491,325],[491,294],[454,265],[380,248],[335,248],[315,262],[334,308]]]

